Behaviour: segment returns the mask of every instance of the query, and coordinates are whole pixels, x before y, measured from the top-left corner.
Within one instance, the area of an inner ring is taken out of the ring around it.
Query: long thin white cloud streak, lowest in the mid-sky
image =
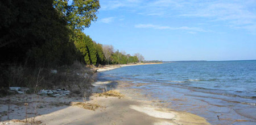
[[[169,26],[159,26],[159,25],[154,25],[154,24],[136,24],[136,28],[153,28],[157,30],[186,30],[186,31],[193,31],[193,32],[211,32],[204,30],[199,27],[169,27]]]

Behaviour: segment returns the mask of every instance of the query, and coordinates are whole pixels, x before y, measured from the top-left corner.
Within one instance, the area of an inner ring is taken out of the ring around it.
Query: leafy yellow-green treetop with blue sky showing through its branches
[[[68,5],[68,0],[55,0],[53,6],[68,20],[69,27],[77,30],[88,28],[92,21],[97,20],[97,12],[100,9],[98,0],[73,0]]]

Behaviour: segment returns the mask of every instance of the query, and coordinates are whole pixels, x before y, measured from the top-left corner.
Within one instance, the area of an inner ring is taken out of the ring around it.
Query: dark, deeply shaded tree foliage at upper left
[[[52,4],[51,0],[1,1],[0,47],[6,53],[2,60],[27,60],[42,67],[73,62],[76,50],[69,41],[71,31]]]

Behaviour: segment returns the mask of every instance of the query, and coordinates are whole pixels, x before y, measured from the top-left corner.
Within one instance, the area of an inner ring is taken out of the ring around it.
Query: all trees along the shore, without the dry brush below
[[[98,9],[98,0],[0,1],[1,69],[10,64],[55,68],[75,60],[96,66],[140,61],[113,49],[104,52],[104,45],[82,32],[97,20]]]

